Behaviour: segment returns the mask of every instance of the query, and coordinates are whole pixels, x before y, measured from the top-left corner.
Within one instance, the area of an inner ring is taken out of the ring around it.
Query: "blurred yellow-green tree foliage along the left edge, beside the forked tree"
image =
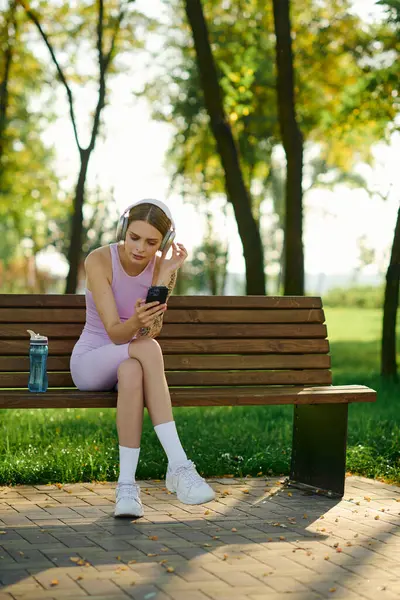
[[[0,11],[0,262],[7,270],[20,245],[43,248],[43,218],[62,205],[53,149],[42,139],[52,120],[52,94],[41,97],[46,68],[28,47],[23,11],[11,1]]]

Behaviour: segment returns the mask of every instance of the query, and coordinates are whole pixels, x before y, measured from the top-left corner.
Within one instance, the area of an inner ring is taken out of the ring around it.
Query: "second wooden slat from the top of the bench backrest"
[[[85,323],[85,306],[80,308],[0,308],[0,323]],[[322,309],[179,309],[164,315],[164,323],[324,323]],[[3,329],[3,327],[1,328]]]

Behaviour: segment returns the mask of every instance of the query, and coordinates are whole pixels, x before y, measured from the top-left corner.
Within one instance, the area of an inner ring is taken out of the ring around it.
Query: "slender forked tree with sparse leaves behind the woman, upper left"
[[[45,27],[42,24],[43,15],[39,11],[33,10],[30,5],[24,0],[17,0],[25,9],[26,14],[35,25],[40,37],[45,43],[53,65],[57,71],[57,78],[63,85],[69,105],[69,116],[74,132],[74,139],[79,152],[80,168],[78,173],[78,179],[75,187],[74,199],[73,199],[73,210],[71,214],[70,222],[70,244],[68,249],[68,263],[69,273],[66,282],[66,293],[75,293],[76,285],[78,280],[78,269],[82,253],[82,220],[83,220],[83,206],[85,202],[85,191],[86,191],[86,177],[89,168],[89,161],[92,152],[95,148],[97,137],[100,130],[101,114],[106,104],[106,83],[107,77],[112,73],[113,63],[118,50],[121,50],[119,45],[119,37],[122,34],[122,25],[128,14],[130,14],[130,5],[133,0],[121,0],[110,2],[108,14],[106,14],[104,0],[97,0],[96,11],[94,13],[92,3],[80,3],[78,7],[78,14],[73,15],[69,24],[69,31],[67,34],[71,35],[71,39],[76,41],[76,36],[82,36],[82,34],[93,35],[95,28],[95,39],[96,39],[96,53],[97,53],[97,69],[98,69],[98,94],[96,106],[93,113],[92,126],[89,136],[89,143],[84,146],[80,141],[80,135],[78,132],[77,119],[75,114],[74,96],[72,87],[68,81],[67,70],[63,68],[61,62],[56,56],[56,44],[49,33],[45,31]],[[45,6],[45,5],[43,5]],[[43,8],[42,6],[42,8]],[[69,3],[62,4],[58,9],[58,13],[61,18],[65,18],[65,15],[70,15],[71,8]],[[95,14],[95,20],[93,15]],[[57,22],[57,21],[55,21]],[[129,27],[125,29],[123,40],[130,46],[132,45],[132,32]],[[64,32],[65,38],[65,32]],[[108,38],[108,39],[107,39]],[[90,37],[84,38],[87,44]],[[63,50],[65,51],[68,43],[71,40],[62,40]],[[76,50],[75,50],[76,53]],[[76,57],[75,57],[76,58]]]

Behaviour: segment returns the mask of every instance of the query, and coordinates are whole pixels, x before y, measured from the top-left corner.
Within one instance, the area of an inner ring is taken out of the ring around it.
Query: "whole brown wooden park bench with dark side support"
[[[69,372],[85,322],[82,295],[0,294],[0,408],[115,407]],[[294,405],[289,484],[344,493],[347,409],[363,385],[332,386],[321,298],[172,296],[158,338],[173,406]],[[29,335],[49,338],[46,393],[27,389]]]

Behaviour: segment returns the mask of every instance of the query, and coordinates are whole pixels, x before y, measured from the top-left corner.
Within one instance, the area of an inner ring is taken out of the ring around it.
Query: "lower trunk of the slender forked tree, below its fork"
[[[70,226],[70,245],[68,249],[69,271],[65,294],[75,294],[78,284],[79,262],[82,252],[82,231],[83,231],[83,204],[85,201],[85,182],[89,166],[91,150],[80,150],[81,166],[79,170],[78,182],[75,188],[75,198],[73,203],[73,213],[71,215]]]

